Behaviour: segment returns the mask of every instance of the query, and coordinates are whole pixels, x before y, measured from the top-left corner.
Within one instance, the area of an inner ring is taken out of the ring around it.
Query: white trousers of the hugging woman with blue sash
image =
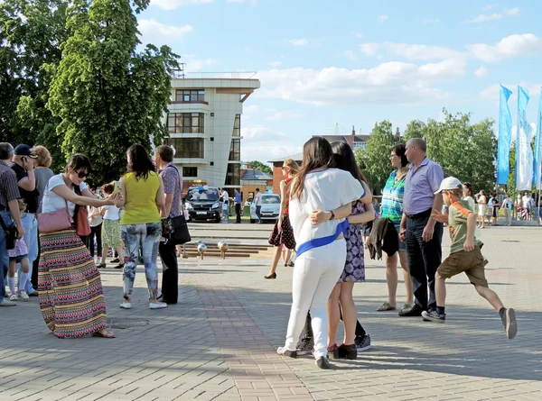
[[[305,319],[311,311],[314,333],[314,358],[327,355],[327,302],[341,277],[346,260],[346,242],[338,240],[313,248],[297,257],[292,284],[292,310],[288,321],[285,348],[295,350]]]

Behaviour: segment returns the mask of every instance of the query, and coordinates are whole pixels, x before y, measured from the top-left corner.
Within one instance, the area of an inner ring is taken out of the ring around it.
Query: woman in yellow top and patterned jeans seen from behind
[[[124,199],[124,213],[120,219],[121,237],[124,242],[124,301],[123,309],[132,307],[135,268],[139,254],[143,256],[145,278],[149,291],[149,307],[161,309],[167,306],[158,302],[158,244],[162,237],[162,224],[158,209],[165,205],[164,186],[154,171],[153,161],[140,144],[127,152],[127,172],[120,179],[120,191]]]

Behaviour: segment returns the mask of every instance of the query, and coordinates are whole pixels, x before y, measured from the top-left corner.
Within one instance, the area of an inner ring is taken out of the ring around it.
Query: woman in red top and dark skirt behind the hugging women
[[[290,260],[292,250],[295,249],[294,232],[292,231],[292,225],[290,224],[290,219],[288,217],[288,203],[290,185],[298,172],[299,166],[295,160],[286,159],[282,167],[282,174],[285,179],[280,182],[280,212],[273,232],[271,233],[271,237],[269,238],[269,243],[275,245],[275,254],[273,255],[273,262],[271,263],[271,271],[269,271],[269,274],[264,276],[264,278],[276,278],[276,265],[280,259],[283,245],[288,250],[286,260]]]

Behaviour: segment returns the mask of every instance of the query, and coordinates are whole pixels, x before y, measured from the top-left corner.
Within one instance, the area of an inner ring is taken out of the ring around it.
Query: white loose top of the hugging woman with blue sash
[[[292,188],[295,180],[292,182]],[[309,215],[313,210],[330,212],[342,205],[360,199],[365,189],[350,172],[341,169],[325,169],[311,172],[304,178],[304,193],[301,200],[290,199],[289,217],[294,228],[297,247],[315,238],[327,237],[337,231],[342,220],[331,220],[313,225]]]

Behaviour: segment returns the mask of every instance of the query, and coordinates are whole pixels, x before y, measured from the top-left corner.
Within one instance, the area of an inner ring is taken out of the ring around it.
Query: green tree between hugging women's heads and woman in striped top
[[[367,179],[374,195],[381,195],[386,185],[389,173],[392,170],[389,154],[394,144],[394,135],[391,123],[387,120],[375,123],[370,133],[365,150],[356,150],[356,160]]]

